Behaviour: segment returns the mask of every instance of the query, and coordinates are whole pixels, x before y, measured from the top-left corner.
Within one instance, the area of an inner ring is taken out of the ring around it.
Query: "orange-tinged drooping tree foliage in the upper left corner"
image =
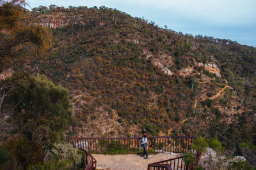
[[[31,45],[40,53],[52,46],[51,32],[47,27],[31,23],[26,6],[25,0],[0,1],[0,71],[17,64],[19,54]]]

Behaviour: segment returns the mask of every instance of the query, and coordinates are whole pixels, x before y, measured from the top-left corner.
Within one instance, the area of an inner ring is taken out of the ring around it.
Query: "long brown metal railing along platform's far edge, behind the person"
[[[148,137],[147,152],[191,153],[196,137],[157,136]],[[72,138],[74,147],[90,153],[142,153],[141,138]],[[194,153],[195,154],[195,153]]]

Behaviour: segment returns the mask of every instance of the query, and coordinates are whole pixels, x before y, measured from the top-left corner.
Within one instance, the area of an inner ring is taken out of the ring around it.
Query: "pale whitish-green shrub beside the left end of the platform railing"
[[[77,168],[81,166],[82,155],[78,149],[69,143],[54,143],[49,153],[50,160],[70,160],[70,167]]]

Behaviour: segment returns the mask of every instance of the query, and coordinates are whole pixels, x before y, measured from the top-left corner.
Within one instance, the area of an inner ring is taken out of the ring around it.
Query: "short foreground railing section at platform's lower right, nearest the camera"
[[[172,170],[188,169],[188,166],[184,162],[184,156],[175,157],[173,159],[168,159],[168,160],[163,160],[159,162],[154,162],[152,164],[148,164],[148,170],[162,170],[162,169],[169,170],[169,168]]]

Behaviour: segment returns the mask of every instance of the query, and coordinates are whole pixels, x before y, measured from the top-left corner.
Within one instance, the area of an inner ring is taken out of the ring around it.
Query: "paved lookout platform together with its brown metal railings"
[[[199,152],[191,150],[195,139],[189,136],[148,137],[149,159],[140,157],[143,153],[141,138],[72,138],[72,143],[86,153],[85,170],[186,170],[189,165],[184,161],[184,154],[199,156]]]

